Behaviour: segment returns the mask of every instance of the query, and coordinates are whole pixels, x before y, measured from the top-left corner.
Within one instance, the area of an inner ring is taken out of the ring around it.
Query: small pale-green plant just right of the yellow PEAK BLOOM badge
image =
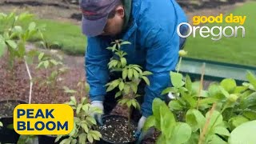
[[[68,134],[68,138],[62,140],[62,144],[70,144],[70,143],[79,143],[86,144],[86,142],[93,143],[96,140],[100,140],[102,134],[98,132],[98,126],[96,120],[92,116],[94,113],[102,114],[102,110],[97,107],[90,106],[90,102],[88,98],[86,98],[83,94],[89,91],[89,85],[84,82],[79,82],[78,86],[81,87],[80,92],[76,90],[70,90],[65,87],[65,91],[68,94],[71,94],[70,102],[67,102],[70,105],[75,113],[74,116],[74,129]],[[76,100],[76,97],[80,99],[80,101]],[[58,142],[62,135],[59,135],[56,138],[55,142]]]

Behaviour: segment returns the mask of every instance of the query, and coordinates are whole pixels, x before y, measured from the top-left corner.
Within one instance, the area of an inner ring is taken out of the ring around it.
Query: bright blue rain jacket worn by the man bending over
[[[128,64],[138,64],[153,74],[148,76],[150,86],[146,86],[142,115],[152,114],[154,98],[163,98],[162,90],[170,86],[170,70],[178,63],[178,50],[183,40],[178,37],[177,26],[187,22],[186,14],[174,0],[133,0],[131,26],[122,34],[131,45],[122,47],[128,54]],[[103,101],[106,83],[109,82],[107,67],[113,56],[106,36],[88,38],[86,49],[86,78],[90,84],[91,101]],[[107,101],[107,99],[106,99]]]

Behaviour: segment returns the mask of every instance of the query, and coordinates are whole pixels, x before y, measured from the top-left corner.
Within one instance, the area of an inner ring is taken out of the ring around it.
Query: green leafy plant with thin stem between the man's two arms
[[[142,71],[142,67],[138,65],[127,64],[125,56],[126,52],[122,50],[123,45],[128,45],[130,42],[116,40],[111,42],[113,46],[108,47],[114,53],[113,58],[108,63],[110,71],[116,71],[122,74],[121,78],[115,79],[106,84],[107,92],[118,88],[115,98],[122,97],[118,103],[122,106],[127,106],[129,110],[128,122],[130,124],[130,114],[132,108],[140,109],[140,105],[136,98],[140,95],[138,93],[138,84],[144,80],[147,85],[150,85],[149,79],[146,77],[152,73],[149,71]],[[130,130],[130,127],[129,127]]]

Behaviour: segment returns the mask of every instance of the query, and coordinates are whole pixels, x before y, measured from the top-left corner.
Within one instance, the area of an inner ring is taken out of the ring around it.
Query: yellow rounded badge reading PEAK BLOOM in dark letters
[[[69,134],[74,111],[65,104],[22,104],[14,109],[14,130],[18,134]]]

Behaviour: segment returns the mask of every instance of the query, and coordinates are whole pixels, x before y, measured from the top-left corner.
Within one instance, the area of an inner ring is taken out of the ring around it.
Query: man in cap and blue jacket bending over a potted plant
[[[90,85],[92,106],[109,114],[116,106],[113,92],[106,93],[106,83],[117,76],[108,70],[113,54],[106,47],[116,39],[131,42],[123,48],[129,64],[150,71],[150,86],[143,91],[141,116],[135,137],[142,136],[146,118],[152,114],[154,98],[165,99],[162,90],[170,86],[170,71],[178,63],[178,50],[185,42],[178,37],[177,26],[186,22],[186,14],[175,0],[81,0],[82,33],[87,36],[86,78]],[[181,27],[186,33],[186,27]],[[135,115],[135,114],[134,114]],[[102,124],[102,116],[94,115]],[[136,121],[136,120],[135,120]]]

